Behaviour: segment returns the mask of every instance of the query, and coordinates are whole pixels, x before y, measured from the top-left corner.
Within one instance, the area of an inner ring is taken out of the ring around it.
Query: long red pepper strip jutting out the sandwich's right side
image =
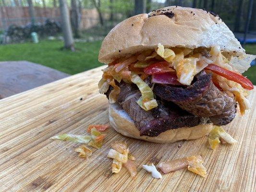
[[[244,87],[244,89],[252,90],[254,88],[252,82],[250,82],[250,80],[244,77],[243,75],[221,68],[214,64],[209,64],[205,69],[212,71],[222,77],[225,77],[230,81],[241,84],[241,86]]]

